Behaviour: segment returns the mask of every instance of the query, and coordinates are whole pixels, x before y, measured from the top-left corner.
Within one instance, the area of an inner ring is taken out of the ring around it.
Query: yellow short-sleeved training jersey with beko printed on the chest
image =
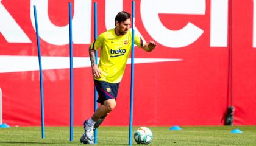
[[[141,47],[146,43],[140,36],[134,35],[134,43]],[[108,83],[119,83],[126,68],[126,62],[132,50],[132,30],[123,36],[117,36],[115,29],[101,33],[91,44],[93,50],[101,48],[99,69],[101,78],[95,80],[106,81]]]

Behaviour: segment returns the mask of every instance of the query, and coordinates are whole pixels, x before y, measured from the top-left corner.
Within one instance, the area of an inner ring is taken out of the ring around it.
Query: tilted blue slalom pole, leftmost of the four
[[[41,64],[41,49],[40,49],[40,40],[39,40],[39,32],[38,32],[38,24],[37,24],[37,8],[35,5],[34,8],[34,16],[35,16],[35,30],[37,32],[37,50],[38,50],[38,60],[39,60],[39,74],[40,74],[40,92],[41,92],[41,133],[42,139],[44,136],[44,105],[43,105],[43,72],[42,72],[42,64]]]

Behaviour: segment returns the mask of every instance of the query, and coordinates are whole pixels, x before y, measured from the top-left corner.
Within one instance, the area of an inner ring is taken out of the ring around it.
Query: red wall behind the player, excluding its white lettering
[[[48,16],[52,24],[68,24],[68,2],[48,1]],[[77,1],[74,5],[76,5]],[[94,1],[91,1],[94,2]],[[188,22],[204,32],[193,43],[183,47],[169,47],[158,43],[146,30],[141,15],[141,1],[136,1],[136,27],[141,35],[158,44],[153,52],[135,49],[135,58],[180,58],[167,61],[135,64],[133,125],[223,125],[224,114],[230,104],[227,97],[228,46],[210,46],[211,2],[205,1],[204,15],[159,13],[159,19],[169,30],[181,30]],[[98,32],[106,30],[106,1],[98,1]],[[30,1],[3,0],[0,4],[28,36],[31,43],[9,42],[0,30],[0,57],[37,56],[35,30],[30,18]],[[57,5],[58,7],[57,7]],[[235,106],[235,125],[255,125],[256,49],[253,43],[253,1],[233,1],[232,4],[232,97]],[[56,9],[57,8],[57,9]],[[40,5],[37,5],[40,10]],[[123,1],[123,10],[130,12],[131,2]],[[154,11],[154,10],[153,10]],[[154,25],[152,20],[152,25]],[[221,21],[221,20],[219,20]],[[2,22],[1,22],[2,23]],[[114,23],[114,18],[113,18]],[[91,7],[91,41],[93,40],[93,8]],[[5,24],[7,25],[7,24]],[[39,26],[39,30],[42,26]],[[158,29],[158,28],[156,28]],[[13,32],[10,32],[13,33]],[[188,34],[193,35],[193,34]],[[165,38],[168,36],[162,36]],[[69,46],[41,41],[44,57],[68,57]],[[172,40],[170,40],[172,41]],[[89,44],[74,43],[74,57],[88,57]],[[88,58],[85,58],[85,61]],[[15,62],[16,60],[11,60]],[[10,64],[10,60],[1,62]],[[54,62],[52,62],[54,63]],[[15,64],[15,63],[14,63]],[[31,64],[27,64],[29,66]],[[49,64],[43,64],[45,66]],[[12,70],[12,69],[10,69]],[[45,125],[69,125],[69,69],[44,69],[44,118]],[[3,119],[9,125],[40,125],[39,72],[10,71],[0,73],[3,92]],[[94,85],[91,68],[74,68],[74,125],[93,114]],[[117,106],[104,125],[129,125],[130,65],[127,65],[121,82]]]

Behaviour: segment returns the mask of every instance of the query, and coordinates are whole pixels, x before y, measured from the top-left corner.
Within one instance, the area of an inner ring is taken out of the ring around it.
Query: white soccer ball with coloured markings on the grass
[[[137,142],[137,144],[149,144],[152,139],[152,132],[147,127],[140,127],[134,133],[134,140]]]

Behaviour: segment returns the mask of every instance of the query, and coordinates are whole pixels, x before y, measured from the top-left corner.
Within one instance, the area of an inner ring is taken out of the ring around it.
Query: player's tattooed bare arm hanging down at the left
[[[91,46],[89,47],[89,56],[91,60],[91,69],[93,72],[94,78],[101,78],[101,71],[99,70],[96,61],[95,61],[95,50],[91,49]]]

